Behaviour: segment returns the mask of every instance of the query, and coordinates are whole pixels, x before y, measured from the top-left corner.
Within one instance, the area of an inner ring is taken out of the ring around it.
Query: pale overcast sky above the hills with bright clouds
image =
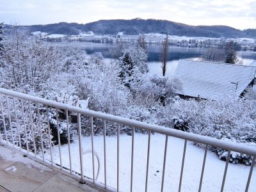
[[[256,28],[256,0],[0,0],[0,22],[87,23],[100,19],[166,19],[190,25]]]

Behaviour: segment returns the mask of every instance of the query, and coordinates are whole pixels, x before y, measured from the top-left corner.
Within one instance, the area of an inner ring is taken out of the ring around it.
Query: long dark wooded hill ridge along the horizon
[[[77,35],[79,31],[93,31],[96,34],[116,35],[122,31],[126,35],[142,33],[164,33],[177,36],[205,37],[248,37],[256,38],[256,29],[239,30],[228,26],[189,26],[169,20],[156,19],[115,19],[99,20],[88,24],[60,22],[58,24],[24,26],[29,31],[42,31],[49,34]]]

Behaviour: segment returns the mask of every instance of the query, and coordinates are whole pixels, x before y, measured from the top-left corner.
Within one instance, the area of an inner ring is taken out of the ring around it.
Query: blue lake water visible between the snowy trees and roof
[[[88,54],[93,52],[101,52],[104,58],[111,58],[108,51],[111,47],[115,46],[112,44],[95,44],[90,42],[61,42],[61,45],[68,45],[74,47],[80,47],[85,50]],[[161,56],[159,45],[152,44],[147,47],[148,52],[148,70],[150,73],[162,74],[161,69]],[[180,59],[198,60],[205,49],[191,49],[186,47],[170,47],[168,54],[168,62],[166,67],[166,75],[172,76],[175,72],[175,68]],[[253,60],[256,60],[256,52],[252,51],[237,51],[237,57],[239,60],[243,60],[243,65],[250,65]]]

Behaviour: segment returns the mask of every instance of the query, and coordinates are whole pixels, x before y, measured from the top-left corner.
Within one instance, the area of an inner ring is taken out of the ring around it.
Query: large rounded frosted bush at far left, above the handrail
[[[36,40],[19,39],[19,46],[6,40],[3,63],[4,87],[22,92],[39,92],[42,84],[61,70],[57,47]]]

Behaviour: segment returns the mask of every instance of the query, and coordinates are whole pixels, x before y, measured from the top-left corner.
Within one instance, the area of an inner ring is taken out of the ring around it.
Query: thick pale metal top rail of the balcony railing
[[[168,127],[147,124],[145,122],[139,122],[137,120],[131,120],[129,118],[124,118],[121,116],[109,115],[106,113],[92,111],[89,109],[81,109],[74,106],[70,106],[69,104],[63,104],[60,102],[56,102],[54,100],[47,100],[40,97],[35,97],[35,96],[27,95],[25,93],[14,92],[12,90],[6,90],[4,88],[0,88],[0,93],[4,95],[10,95],[13,97],[19,97],[20,99],[26,99],[33,102],[38,102],[40,104],[44,104],[45,106],[51,106],[54,108],[65,109],[65,110],[72,111],[75,113],[80,113],[83,115],[93,116],[96,118],[100,118],[102,120],[108,120],[110,122],[116,122],[119,124],[130,125],[131,127],[136,127],[139,129],[145,129],[147,131],[167,134],[168,136],[173,136],[175,138],[180,138],[183,140],[194,141],[196,143],[202,143],[202,144],[213,146],[213,147],[219,147],[226,150],[240,152],[242,154],[248,154],[250,156],[256,156],[255,147],[250,147],[247,145],[243,145],[241,143],[232,143],[228,141],[218,140],[216,138],[209,138],[208,136],[193,134],[191,132],[182,132],[175,129],[170,129]]]

